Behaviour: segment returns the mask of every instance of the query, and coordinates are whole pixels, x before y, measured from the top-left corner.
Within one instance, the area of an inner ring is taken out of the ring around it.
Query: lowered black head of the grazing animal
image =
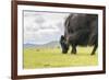
[[[60,45],[61,45],[61,48],[62,48],[62,53],[66,54],[68,50],[69,50],[69,44],[66,43],[66,39],[63,35],[61,35],[61,37],[60,37]]]

